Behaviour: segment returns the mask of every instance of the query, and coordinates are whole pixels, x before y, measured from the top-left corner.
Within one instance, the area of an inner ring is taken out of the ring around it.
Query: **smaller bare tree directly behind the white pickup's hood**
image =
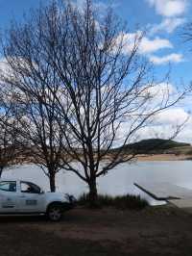
[[[19,143],[25,150],[25,159],[42,168],[49,178],[51,192],[55,192],[63,143],[55,99],[50,100],[47,91],[43,90],[22,92],[25,95],[22,93],[17,98],[17,106],[13,109],[14,118],[19,123],[17,134],[22,138]]]

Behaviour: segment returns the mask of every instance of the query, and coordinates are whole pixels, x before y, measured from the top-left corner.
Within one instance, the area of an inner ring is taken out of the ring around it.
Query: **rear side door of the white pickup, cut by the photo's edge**
[[[0,182],[0,213],[15,213],[17,208],[16,181]]]

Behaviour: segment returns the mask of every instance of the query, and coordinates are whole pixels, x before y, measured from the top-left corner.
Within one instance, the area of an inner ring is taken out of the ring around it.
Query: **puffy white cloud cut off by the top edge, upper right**
[[[156,9],[156,13],[173,17],[185,13],[187,0],[146,0],[151,7]]]

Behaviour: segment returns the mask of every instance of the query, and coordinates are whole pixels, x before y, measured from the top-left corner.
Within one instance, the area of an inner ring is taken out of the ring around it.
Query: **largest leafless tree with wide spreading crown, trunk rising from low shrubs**
[[[184,95],[170,97],[168,84],[159,90],[152,65],[139,55],[142,37],[126,31],[111,10],[100,15],[86,0],[84,9],[70,1],[40,8],[24,25],[12,25],[4,43],[11,71],[2,80],[25,95],[27,141],[45,160],[53,143],[54,150],[61,148],[57,166],[88,184],[92,204],[97,178],[135,157],[124,145]]]

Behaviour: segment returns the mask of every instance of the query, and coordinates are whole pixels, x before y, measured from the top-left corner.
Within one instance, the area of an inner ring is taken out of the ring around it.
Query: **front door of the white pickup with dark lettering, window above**
[[[45,196],[40,188],[31,182],[20,182],[18,211],[41,213],[45,211]]]

